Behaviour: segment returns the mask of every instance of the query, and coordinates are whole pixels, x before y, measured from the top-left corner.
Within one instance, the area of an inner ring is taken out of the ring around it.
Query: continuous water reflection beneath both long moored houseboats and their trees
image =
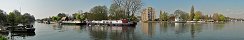
[[[105,26],[105,25],[53,25],[59,32],[77,31],[86,32],[94,40],[135,40],[135,27],[132,26]],[[87,36],[87,37],[89,37]]]

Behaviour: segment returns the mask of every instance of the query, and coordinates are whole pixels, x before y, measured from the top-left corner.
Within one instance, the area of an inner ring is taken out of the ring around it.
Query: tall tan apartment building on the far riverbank
[[[156,19],[155,9],[148,7],[141,12],[141,21],[154,21]]]

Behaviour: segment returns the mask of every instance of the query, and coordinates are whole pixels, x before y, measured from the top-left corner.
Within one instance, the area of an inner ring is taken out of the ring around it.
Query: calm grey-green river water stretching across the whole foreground
[[[137,26],[80,26],[35,23],[35,33],[14,40],[244,40],[244,22],[138,22]]]

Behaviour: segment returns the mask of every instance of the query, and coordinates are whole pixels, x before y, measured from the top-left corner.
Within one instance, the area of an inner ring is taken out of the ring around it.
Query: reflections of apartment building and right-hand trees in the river
[[[215,29],[223,29],[224,23],[169,23],[169,22],[159,22],[159,29],[156,27],[157,23],[146,22],[141,23],[141,30],[145,35],[149,37],[155,37],[158,34],[154,35],[156,30],[159,30],[159,35],[170,34],[171,36],[182,37],[188,34],[190,39],[195,40],[197,35],[203,31],[203,28],[214,28]]]

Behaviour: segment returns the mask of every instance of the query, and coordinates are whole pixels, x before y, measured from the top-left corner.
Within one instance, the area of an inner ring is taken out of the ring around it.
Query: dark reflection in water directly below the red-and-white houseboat
[[[134,27],[130,26],[92,26],[88,27],[94,40],[135,40]]]

